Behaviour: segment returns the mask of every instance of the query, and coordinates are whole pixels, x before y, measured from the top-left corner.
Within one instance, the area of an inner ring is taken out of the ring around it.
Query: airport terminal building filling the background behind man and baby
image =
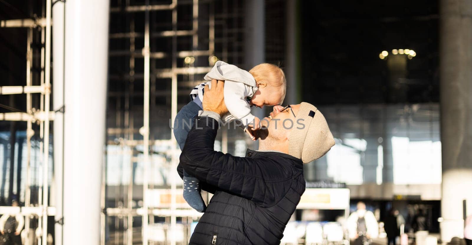
[[[172,122],[218,60],[278,65],[284,105],[317,106],[335,138],[304,165],[306,192],[281,244],[354,243],[348,220],[359,203],[377,221],[370,244],[388,244],[394,211],[396,244],[464,237],[472,25],[455,14],[467,9],[472,23],[467,0],[96,2],[0,0],[0,214],[17,214],[20,244],[188,244],[202,213],[182,198]],[[100,83],[70,65],[92,60]],[[70,79],[74,72],[81,76]],[[105,114],[87,115],[95,106]],[[233,126],[219,130],[214,149],[257,150]],[[73,157],[93,154],[95,162]],[[99,218],[77,226],[97,240],[68,243],[81,234],[67,232],[67,215],[86,215],[83,203],[96,203]]]

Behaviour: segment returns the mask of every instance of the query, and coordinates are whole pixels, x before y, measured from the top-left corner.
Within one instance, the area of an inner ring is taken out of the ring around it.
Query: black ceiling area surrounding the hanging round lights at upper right
[[[316,104],[438,102],[438,2],[302,1],[303,100]],[[406,86],[389,86],[381,51],[413,49]],[[400,96],[402,93],[403,96]]]

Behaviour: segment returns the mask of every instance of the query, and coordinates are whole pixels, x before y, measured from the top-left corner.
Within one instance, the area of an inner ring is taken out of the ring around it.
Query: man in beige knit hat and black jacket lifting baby
[[[313,105],[274,106],[262,120],[267,129],[257,131],[259,151],[248,150],[246,157],[215,152],[220,116],[228,112],[223,84],[213,80],[211,89],[205,86],[203,111],[177,169],[181,177],[183,169],[197,177],[202,189],[214,194],[190,244],[279,244],[305,191],[303,163],[328,152],[333,136]]]

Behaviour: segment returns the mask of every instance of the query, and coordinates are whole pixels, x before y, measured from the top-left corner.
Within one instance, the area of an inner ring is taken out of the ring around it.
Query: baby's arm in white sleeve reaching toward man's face
[[[246,101],[246,85],[226,80],[223,93],[229,113],[231,113],[231,115],[236,119],[240,119],[244,127],[252,123],[254,115],[251,114],[251,106]]]

